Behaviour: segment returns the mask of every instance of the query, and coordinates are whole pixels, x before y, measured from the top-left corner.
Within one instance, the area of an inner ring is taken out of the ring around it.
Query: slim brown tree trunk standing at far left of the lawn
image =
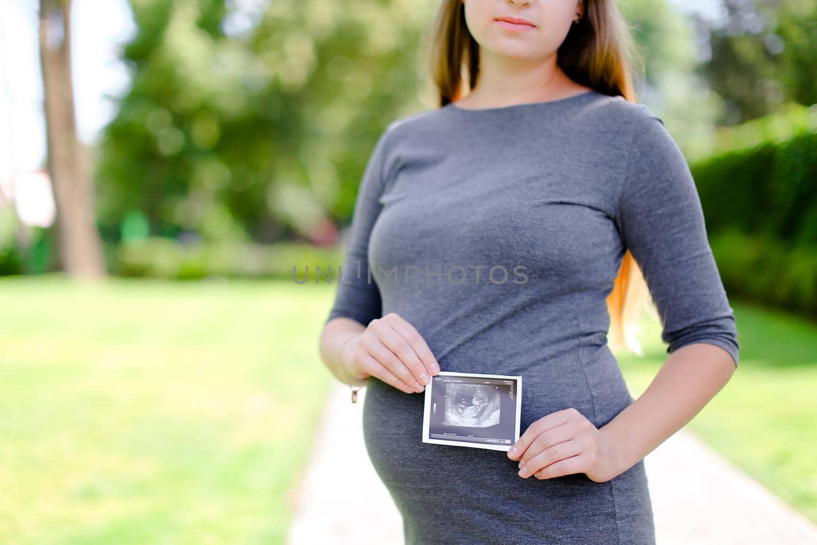
[[[105,276],[93,186],[74,116],[70,0],[40,0],[40,61],[45,96],[48,170],[56,200],[60,260],[73,277]]]

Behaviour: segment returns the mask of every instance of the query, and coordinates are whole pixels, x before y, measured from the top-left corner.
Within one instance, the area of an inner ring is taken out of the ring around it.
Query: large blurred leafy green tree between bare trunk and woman
[[[269,242],[350,214],[377,133],[415,98],[416,1],[131,5],[133,85],[100,149],[101,224],[140,211],[151,235]]]

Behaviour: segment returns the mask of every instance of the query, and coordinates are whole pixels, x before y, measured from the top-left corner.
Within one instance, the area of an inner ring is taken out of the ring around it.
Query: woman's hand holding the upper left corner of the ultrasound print
[[[417,329],[391,312],[373,319],[341,347],[346,371],[357,378],[377,377],[407,394],[425,390],[440,364]]]

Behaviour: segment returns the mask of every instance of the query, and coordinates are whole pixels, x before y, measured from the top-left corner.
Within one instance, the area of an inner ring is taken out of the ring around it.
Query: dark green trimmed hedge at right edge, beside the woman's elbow
[[[817,316],[817,107],[721,129],[692,163],[730,295]]]

